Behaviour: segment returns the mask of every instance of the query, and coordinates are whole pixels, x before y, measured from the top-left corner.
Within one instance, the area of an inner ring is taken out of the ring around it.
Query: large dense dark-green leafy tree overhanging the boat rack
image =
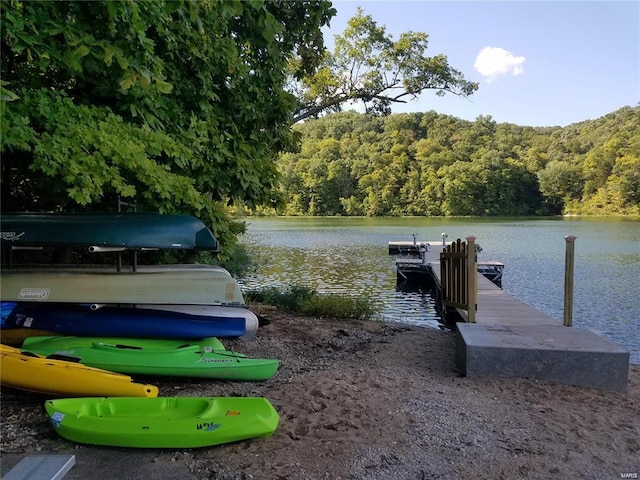
[[[271,204],[292,145],[286,66],[315,68],[325,0],[2,0],[2,209],[191,213]]]

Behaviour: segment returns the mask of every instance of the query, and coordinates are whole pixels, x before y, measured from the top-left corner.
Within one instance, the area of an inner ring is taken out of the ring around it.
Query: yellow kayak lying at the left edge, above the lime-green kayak
[[[21,353],[0,344],[0,383],[7,387],[73,397],[157,397],[158,387],[135,383],[128,375]]]

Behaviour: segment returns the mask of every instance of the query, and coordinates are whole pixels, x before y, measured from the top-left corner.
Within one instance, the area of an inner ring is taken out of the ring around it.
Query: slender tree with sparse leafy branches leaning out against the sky
[[[427,47],[426,33],[406,32],[393,41],[385,27],[358,8],[317,71],[293,76],[298,98],[294,122],[340,111],[347,102],[359,101],[368,113],[386,114],[392,104],[405,103],[425,90],[468,97],[478,89],[449,65],[445,55],[426,56]]]

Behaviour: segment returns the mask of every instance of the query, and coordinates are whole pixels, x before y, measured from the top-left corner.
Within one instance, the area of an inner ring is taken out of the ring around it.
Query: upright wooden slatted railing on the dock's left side
[[[441,302],[443,307],[467,311],[466,320],[476,321],[478,308],[478,255],[476,237],[466,243],[457,239],[440,253]]]

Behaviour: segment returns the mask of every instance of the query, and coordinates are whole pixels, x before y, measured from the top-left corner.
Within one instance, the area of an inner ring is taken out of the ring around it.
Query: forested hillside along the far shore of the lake
[[[640,215],[640,106],[566,127],[434,111],[295,126],[277,160],[285,215]]]

